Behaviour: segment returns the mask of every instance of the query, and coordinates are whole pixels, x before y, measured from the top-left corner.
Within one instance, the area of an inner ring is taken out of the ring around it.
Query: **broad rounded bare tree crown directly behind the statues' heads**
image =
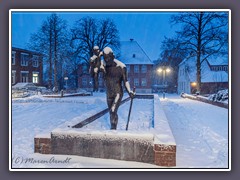
[[[71,31],[71,46],[79,59],[87,64],[93,55],[92,49],[95,45],[100,49],[106,46],[119,49],[118,30],[111,19],[96,20],[92,17],[84,17],[76,21]]]

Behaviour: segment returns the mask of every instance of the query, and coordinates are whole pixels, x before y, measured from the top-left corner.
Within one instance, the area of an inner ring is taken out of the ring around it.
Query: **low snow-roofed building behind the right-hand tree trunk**
[[[212,57],[201,65],[201,94],[228,89],[228,56]],[[179,64],[178,93],[196,93],[196,58]]]

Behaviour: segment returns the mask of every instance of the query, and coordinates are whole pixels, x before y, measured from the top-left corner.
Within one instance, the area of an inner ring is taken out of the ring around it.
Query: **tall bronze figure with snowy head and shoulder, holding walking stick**
[[[117,129],[117,111],[123,97],[122,83],[131,98],[134,98],[135,93],[130,89],[130,84],[127,79],[126,65],[115,59],[111,48],[104,48],[103,58],[105,61],[105,82],[111,129]]]

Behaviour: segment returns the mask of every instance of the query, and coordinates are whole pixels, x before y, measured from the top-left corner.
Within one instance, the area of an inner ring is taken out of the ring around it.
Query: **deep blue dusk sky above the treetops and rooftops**
[[[25,48],[32,33],[36,33],[42,22],[52,12],[12,12],[12,45]],[[85,16],[96,19],[111,18],[119,30],[120,41],[130,38],[136,40],[152,61],[158,59],[161,52],[161,42],[166,37],[172,37],[175,26],[169,24],[170,16],[175,12],[56,12],[67,20],[69,28],[75,21]]]

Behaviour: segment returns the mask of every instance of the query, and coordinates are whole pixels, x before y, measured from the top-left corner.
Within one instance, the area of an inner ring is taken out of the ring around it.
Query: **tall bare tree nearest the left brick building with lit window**
[[[66,21],[53,13],[30,38],[29,47],[45,55],[48,62],[48,87],[52,88],[53,78],[55,92],[58,91],[58,76],[62,76],[63,60],[70,43],[68,36]]]

